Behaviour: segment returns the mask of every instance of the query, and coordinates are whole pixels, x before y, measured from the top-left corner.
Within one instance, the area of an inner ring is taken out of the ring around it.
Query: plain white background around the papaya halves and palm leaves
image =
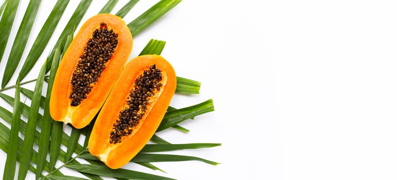
[[[125,22],[156,2],[139,2]],[[54,3],[43,0],[27,48]],[[92,3],[82,22],[104,3]],[[77,4],[69,3],[51,45]],[[134,37],[130,58],[152,38],[167,42],[162,56],[177,76],[202,83],[200,95],[176,95],[172,105],[212,98],[216,110],[183,122],[190,133],[160,136],[172,143],[220,142],[177,153],[221,164],[155,163],[167,174],[127,168],[177,179],[396,179],[395,7],[395,1],[182,1]],[[27,79],[37,76],[50,47]]]

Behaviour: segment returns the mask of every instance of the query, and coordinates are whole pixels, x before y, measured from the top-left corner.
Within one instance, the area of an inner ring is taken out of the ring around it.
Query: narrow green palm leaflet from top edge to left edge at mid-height
[[[24,19],[22,20],[20,28],[16,33],[14,44],[12,45],[10,56],[8,57],[7,65],[4,70],[2,87],[5,87],[6,84],[10,81],[16,67],[18,66],[18,63],[21,60],[22,53],[24,52],[26,43],[28,42],[30,30],[33,26],[34,21],[32,20],[34,20],[36,17],[40,3],[41,0],[31,0],[26,9]]]

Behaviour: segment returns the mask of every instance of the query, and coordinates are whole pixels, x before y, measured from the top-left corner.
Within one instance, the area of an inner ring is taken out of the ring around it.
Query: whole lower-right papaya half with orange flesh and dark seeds
[[[127,164],[159,127],[176,82],[174,68],[159,55],[130,60],[94,123],[89,152],[112,169]]]

